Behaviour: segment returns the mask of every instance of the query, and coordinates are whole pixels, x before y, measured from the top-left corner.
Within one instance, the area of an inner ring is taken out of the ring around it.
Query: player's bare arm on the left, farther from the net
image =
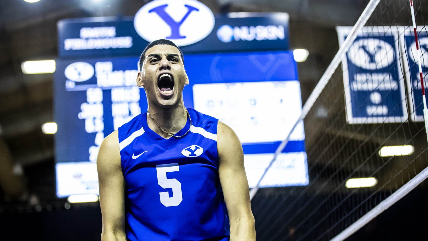
[[[97,158],[100,205],[103,220],[102,241],[126,241],[125,180],[122,174],[117,130],[107,136]]]

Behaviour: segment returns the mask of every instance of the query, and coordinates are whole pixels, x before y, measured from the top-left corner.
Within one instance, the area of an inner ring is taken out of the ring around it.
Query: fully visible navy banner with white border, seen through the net
[[[337,27],[340,45],[352,27]],[[342,60],[346,117],[350,124],[407,120],[398,30],[364,27]]]

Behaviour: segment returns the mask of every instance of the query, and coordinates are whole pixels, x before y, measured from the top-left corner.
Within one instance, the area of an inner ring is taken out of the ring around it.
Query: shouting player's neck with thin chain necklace
[[[149,103],[149,112],[163,130],[173,135],[183,129],[187,123],[187,112],[184,109],[183,101],[179,101],[176,105],[170,108],[162,108],[154,103]],[[169,139],[171,137],[160,130],[149,114],[147,114],[147,124],[149,125],[149,128],[159,136],[162,136],[165,139]]]

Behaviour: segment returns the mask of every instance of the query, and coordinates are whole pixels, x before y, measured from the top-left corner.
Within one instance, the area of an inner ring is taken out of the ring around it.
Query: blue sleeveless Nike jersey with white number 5
[[[218,175],[218,120],[188,111],[193,126],[178,139],[151,130],[147,112],[119,127],[128,240],[229,240]],[[175,135],[189,127],[187,120]]]

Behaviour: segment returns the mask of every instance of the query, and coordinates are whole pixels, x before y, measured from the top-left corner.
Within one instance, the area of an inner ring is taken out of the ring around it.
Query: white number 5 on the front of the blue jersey
[[[158,184],[163,188],[172,188],[172,197],[169,197],[168,192],[159,193],[160,203],[165,207],[178,206],[183,201],[181,194],[181,183],[175,178],[166,179],[166,172],[178,172],[178,163],[156,165],[156,173],[158,174]]]

